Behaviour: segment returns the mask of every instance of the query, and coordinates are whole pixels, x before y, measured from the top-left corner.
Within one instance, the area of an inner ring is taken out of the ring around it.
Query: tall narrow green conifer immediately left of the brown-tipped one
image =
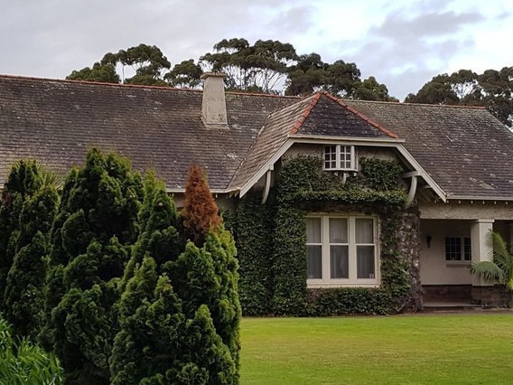
[[[182,354],[182,302],[169,278],[159,274],[164,262],[178,257],[183,241],[173,200],[154,174],[145,179],[139,225],[139,238],[118,286],[120,331],[110,359],[111,381],[138,384],[163,376],[168,378],[163,383],[175,383]]]

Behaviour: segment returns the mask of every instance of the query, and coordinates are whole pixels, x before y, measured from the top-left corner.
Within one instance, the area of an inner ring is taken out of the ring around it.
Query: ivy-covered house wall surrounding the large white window
[[[342,183],[341,174],[322,171],[318,157],[297,156],[282,164],[265,205],[258,194],[240,202],[234,229],[245,315],[392,314],[421,305],[419,215],[404,209],[403,167],[378,158],[361,158],[359,166]],[[307,288],[309,212],[378,215],[378,288]]]

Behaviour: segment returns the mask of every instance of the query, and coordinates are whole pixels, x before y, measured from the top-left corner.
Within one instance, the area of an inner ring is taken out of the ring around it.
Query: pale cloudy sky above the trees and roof
[[[64,79],[141,42],[172,65],[222,39],[354,62],[404,99],[440,73],[513,66],[510,0],[23,0],[0,13],[0,73]]]

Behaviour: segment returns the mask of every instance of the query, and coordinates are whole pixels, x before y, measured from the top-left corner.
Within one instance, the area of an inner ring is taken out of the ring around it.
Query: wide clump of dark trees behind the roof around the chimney
[[[126,67],[135,71],[133,77],[125,76]],[[141,43],[107,52],[91,68],[73,70],[67,79],[197,89],[205,71],[225,72],[229,90],[296,96],[326,90],[340,98],[396,100],[374,77],[362,81],[355,63],[327,63],[318,53],[298,55],[292,44],[277,40],[252,44],[243,38],[223,39],[198,61],[181,61],[173,68],[158,47]]]

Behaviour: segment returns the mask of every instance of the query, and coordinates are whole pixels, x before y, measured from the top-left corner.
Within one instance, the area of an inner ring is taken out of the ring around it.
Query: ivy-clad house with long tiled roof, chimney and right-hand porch
[[[235,218],[247,314],[499,301],[469,270],[490,259],[490,230],[513,240],[513,134],[486,109],[204,78],[201,91],[0,76],[0,183],[21,158],[66,174],[96,146],[154,169],[180,206],[201,164]]]

